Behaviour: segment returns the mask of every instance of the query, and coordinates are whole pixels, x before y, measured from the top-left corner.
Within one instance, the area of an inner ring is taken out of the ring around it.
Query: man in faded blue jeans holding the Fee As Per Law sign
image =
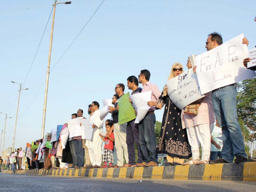
[[[213,48],[223,43],[219,33],[213,32],[208,35],[206,41],[206,50],[210,51]],[[244,37],[243,44],[248,45],[248,40]],[[222,158],[211,161],[211,164],[232,163],[236,156],[235,163],[247,161],[247,155],[244,150],[244,140],[238,123],[236,113],[236,87],[230,84],[220,87],[212,91],[212,105],[216,119],[222,128]]]

